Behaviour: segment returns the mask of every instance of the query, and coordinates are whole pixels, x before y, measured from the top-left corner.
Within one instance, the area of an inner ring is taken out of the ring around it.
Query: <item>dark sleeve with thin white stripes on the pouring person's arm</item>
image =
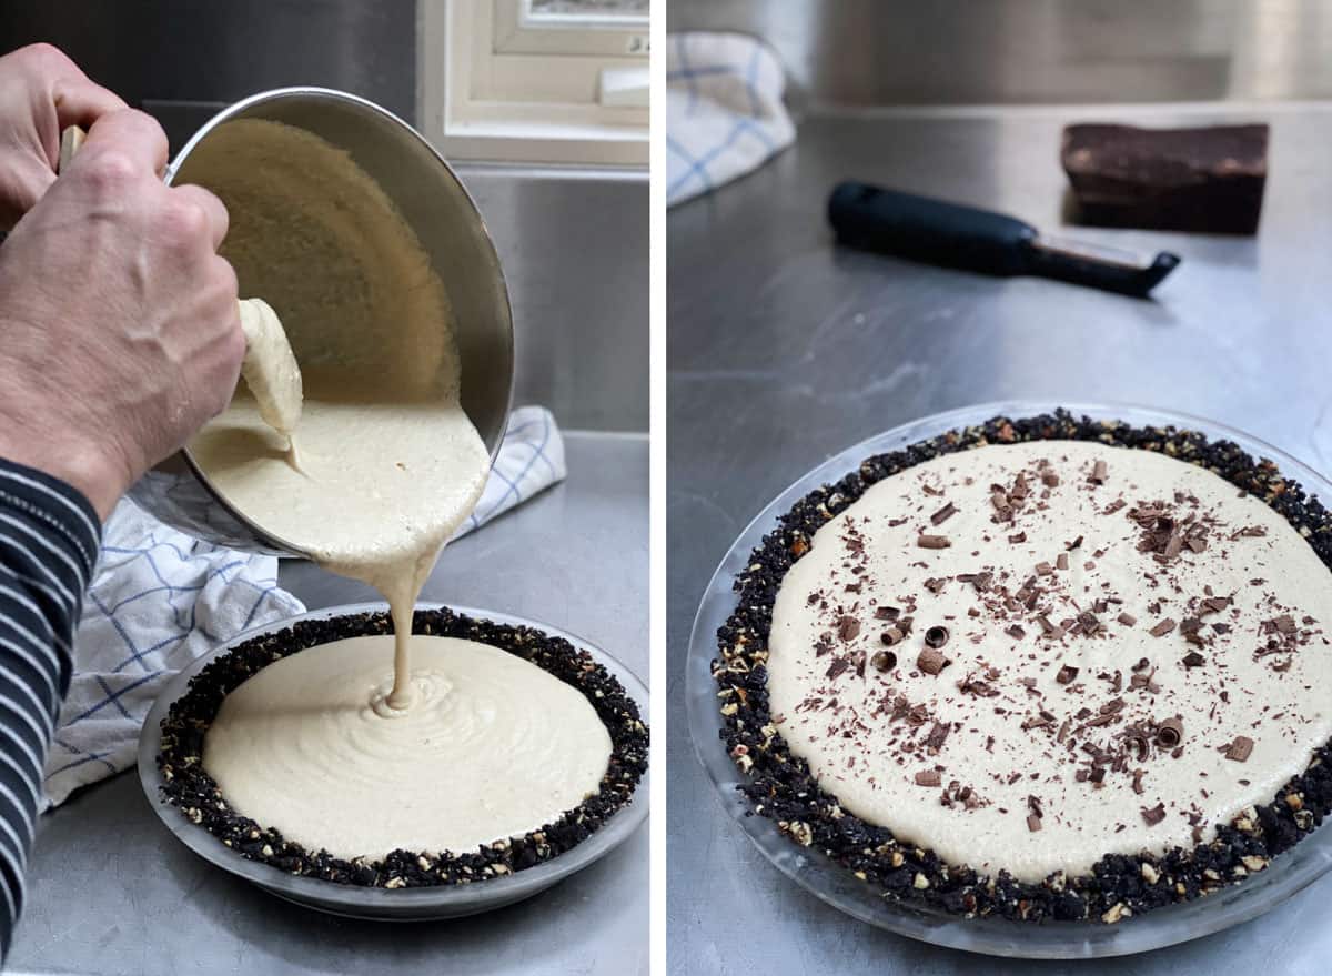
[[[83,495],[0,460],[0,959],[23,908],[41,769],[100,536]]]

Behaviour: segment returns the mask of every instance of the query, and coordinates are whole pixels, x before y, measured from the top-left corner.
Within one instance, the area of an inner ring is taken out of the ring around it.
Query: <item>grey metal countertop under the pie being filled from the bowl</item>
[[[647,440],[567,435],[569,479],[449,547],[422,593],[507,611],[601,645],[646,680]],[[310,608],[378,599],[306,563]],[[537,897],[452,923],[380,924],[289,905],[166,832],[133,773],[41,817],[5,972],[647,973],[647,829]]]

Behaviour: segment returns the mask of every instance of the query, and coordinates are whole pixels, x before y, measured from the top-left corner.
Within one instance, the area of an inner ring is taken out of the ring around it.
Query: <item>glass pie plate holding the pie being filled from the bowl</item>
[[[418,604],[417,609],[438,609],[438,604]],[[647,688],[643,687],[643,683],[629,668],[597,645],[557,627],[549,627],[547,624],[511,613],[496,613],[468,607],[450,607],[449,609],[478,620],[490,620],[497,624],[513,627],[531,627],[543,633],[563,637],[575,648],[590,653],[598,664],[603,665],[625,687],[629,697],[638,704],[643,719],[649,720]],[[385,603],[360,603],[329,607],[286,617],[285,620],[276,620],[246,631],[221,644],[172,679],[148,713],[144,731],[139,737],[139,780],[143,784],[148,803],[157,812],[166,829],[176,835],[177,840],[222,871],[228,871],[266,892],[308,908],[353,919],[425,921],[478,915],[531,897],[614,851],[647,819],[647,791],[651,771],[643,773],[643,779],[638,783],[638,788],[634,791],[634,797],[629,805],[611,816],[610,820],[602,824],[601,829],[585,841],[549,861],[515,871],[503,877],[493,877],[472,884],[388,889],[337,884],[336,881],[324,881],[317,877],[300,877],[270,864],[248,860],[238,852],[224,845],[202,827],[192,824],[180,809],[163,799],[163,777],[156,761],[161,748],[161,720],[165,717],[172,703],[185,693],[189,680],[209,661],[229,653],[232,648],[242,641],[264,633],[281,631],[298,620],[326,620],[386,611],[388,604]]]

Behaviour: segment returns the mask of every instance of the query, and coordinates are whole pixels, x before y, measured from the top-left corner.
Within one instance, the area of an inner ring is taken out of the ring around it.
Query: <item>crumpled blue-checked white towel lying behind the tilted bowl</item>
[[[454,539],[565,473],[550,411],[519,407],[481,501]],[[48,804],[133,765],[144,716],[177,671],[242,631],[304,609],[278,588],[276,557],[202,543],[121,501],[84,599],[75,675],[47,757]]]

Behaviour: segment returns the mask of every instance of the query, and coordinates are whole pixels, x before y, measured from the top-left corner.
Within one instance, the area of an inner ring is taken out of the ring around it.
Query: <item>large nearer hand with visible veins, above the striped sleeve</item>
[[[226,407],[245,355],[226,208],[165,164],[156,121],[104,115],[0,247],[0,457],[103,519]]]

